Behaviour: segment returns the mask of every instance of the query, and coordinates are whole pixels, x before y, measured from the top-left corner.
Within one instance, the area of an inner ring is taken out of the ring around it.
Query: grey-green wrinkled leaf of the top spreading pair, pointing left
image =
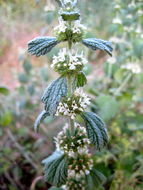
[[[39,57],[50,52],[58,43],[55,37],[40,36],[28,42],[28,52]]]

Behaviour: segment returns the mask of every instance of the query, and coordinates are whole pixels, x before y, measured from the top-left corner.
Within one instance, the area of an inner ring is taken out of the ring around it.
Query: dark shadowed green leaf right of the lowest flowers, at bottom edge
[[[86,190],[96,190],[101,187],[103,183],[106,181],[106,177],[96,169],[93,169],[90,172],[90,175],[86,177]]]

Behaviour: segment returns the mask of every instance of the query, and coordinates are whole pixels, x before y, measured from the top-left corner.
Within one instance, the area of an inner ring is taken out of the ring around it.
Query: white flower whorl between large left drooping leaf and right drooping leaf
[[[71,98],[67,98],[59,103],[55,115],[65,115],[75,119],[76,114],[84,111],[89,104],[90,98],[78,88]]]

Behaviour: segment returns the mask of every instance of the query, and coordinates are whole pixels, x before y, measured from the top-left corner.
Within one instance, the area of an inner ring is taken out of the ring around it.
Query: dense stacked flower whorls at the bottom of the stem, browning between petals
[[[68,156],[69,180],[67,182],[67,187],[69,185],[75,186],[76,183],[73,184],[72,180],[76,180],[78,182],[78,187],[80,188],[80,186],[82,187],[80,182],[81,179],[84,179],[86,175],[89,175],[93,168],[93,160],[88,151],[90,141],[87,137],[86,129],[79,124],[74,123],[73,131],[74,133],[71,134],[69,126],[66,124],[63,131],[61,131],[57,138],[55,138],[55,142],[57,149],[60,149]]]

